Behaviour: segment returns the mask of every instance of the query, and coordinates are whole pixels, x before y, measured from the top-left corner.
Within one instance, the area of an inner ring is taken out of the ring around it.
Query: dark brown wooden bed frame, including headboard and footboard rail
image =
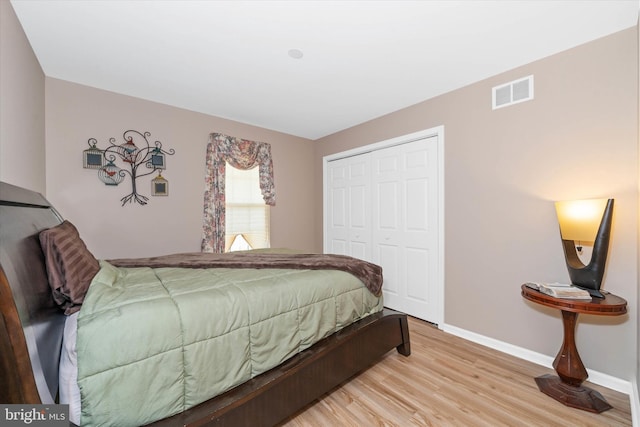
[[[65,316],[51,296],[38,234],[62,222],[40,194],[0,182],[0,402],[57,402]],[[407,316],[383,312],[282,365],[154,426],[272,426],[396,348],[411,353]]]

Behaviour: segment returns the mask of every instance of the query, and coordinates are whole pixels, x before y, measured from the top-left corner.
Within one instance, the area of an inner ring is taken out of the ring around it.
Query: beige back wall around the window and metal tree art
[[[47,196],[76,224],[97,257],[141,257],[200,251],[204,156],[208,135],[229,135],[271,144],[276,206],[271,210],[273,247],[313,249],[312,142],[237,122],[194,113],[57,79],[46,79]],[[163,176],[168,197],[150,196],[153,176],[139,178],[146,206],[121,206],[130,180],[107,187],[82,167],[87,140],[106,148],[110,137],[123,143],[128,129],[151,133],[167,156]]]

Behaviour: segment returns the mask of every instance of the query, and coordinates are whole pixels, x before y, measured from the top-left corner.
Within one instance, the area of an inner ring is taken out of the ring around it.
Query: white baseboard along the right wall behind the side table
[[[554,357],[549,357],[541,353],[537,353],[535,351],[527,350],[526,348],[518,347],[509,343],[505,343],[503,341],[498,341],[493,338],[486,337],[484,335],[476,334],[475,332],[469,332],[465,329],[458,328],[456,326],[451,326],[447,324],[443,324],[440,328],[445,332],[448,332],[452,335],[456,335],[460,338],[464,338],[466,340],[475,342],[480,345],[484,345],[485,347],[492,348],[494,350],[501,351],[506,354],[510,354],[511,356],[518,357],[520,359],[527,360],[529,362],[533,362],[537,365],[544,366],[545,368],[553,369],[553,359]],[[594,371],[587,369],[587,374],[589,375],[589,382],[594,384],[601,385],[603,387],[610,388],[615,391],[619,391],[620,393],[625,393],[629,395],[631,399],[635,395],[635,404],[636,410],[638,409],[638,388],[637,384],[632,386],[631,381],[625,381],[620,378],[616,378],[614,376],[603,374],[602,372]],[[633,413],[634,402],[631,402],[631,411]],[[634,422],[635,426],[636,423]]]

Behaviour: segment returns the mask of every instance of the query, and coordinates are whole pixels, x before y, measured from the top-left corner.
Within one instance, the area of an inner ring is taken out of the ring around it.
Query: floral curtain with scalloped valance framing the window
[[[224,189],[227,162],[238,169],[251,169],[258,165],[264,201],[269,206],[276,204],[271,145],[212,133],[209,135],[205,164],[202,252],[222,253],[225,249]]]

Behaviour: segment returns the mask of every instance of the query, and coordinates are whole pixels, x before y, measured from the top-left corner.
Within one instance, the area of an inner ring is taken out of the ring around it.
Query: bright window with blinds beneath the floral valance
[[[269,206],[260,191],[258,167],[241,170],[227,163],[225,195],[225,252],[268,248]]]

